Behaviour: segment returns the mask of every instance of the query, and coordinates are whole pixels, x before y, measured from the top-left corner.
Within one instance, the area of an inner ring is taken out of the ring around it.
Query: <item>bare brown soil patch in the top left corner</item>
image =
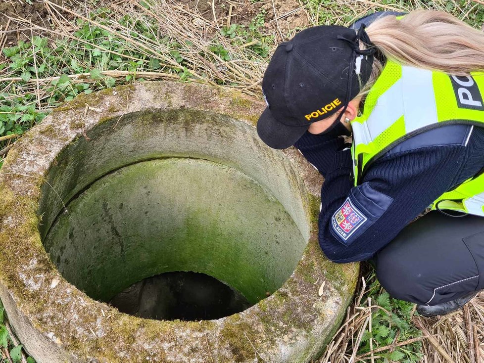
[[[11,2],[10,2],[11,1]],[[52,0],[58,5],[63,5],[70,7],[70,2],[67,0]],[[68,13],[60,13],[67,19],[72,19],[72,16]],[[52,22],[50,19],[50,13],[48,11],[47,5],[43,2],[34,1],[32,5],[28,3],[21,3],[18,0],[2,0],[0,3],[0,30],[5,30],[8,17],[12,18],[23,18],[30,20],[33,25],[42,26],[44,28],[52,28]],[[0,33],[0,45],[4,42],[5,46],[13,46],[18,43],[19,39],[30,40],[31,31],[30,29],[25,29],[24,26],[19,26],[19,24],[13,20],[10,20],[8,28],[6,29],[6,42],[4,41],[4,35]],[[39,32],[36,30],[34,35],[43,35],[45,32]]]

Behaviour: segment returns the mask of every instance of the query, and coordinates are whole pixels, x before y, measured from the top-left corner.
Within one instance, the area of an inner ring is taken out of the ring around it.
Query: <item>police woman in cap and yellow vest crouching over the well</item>
[[[421,10],[303,30],[262,82],[259,136],[325,177],[323,252],[373,259],[388,293],[425,316],[484,289],[483,71],[482,32]]]

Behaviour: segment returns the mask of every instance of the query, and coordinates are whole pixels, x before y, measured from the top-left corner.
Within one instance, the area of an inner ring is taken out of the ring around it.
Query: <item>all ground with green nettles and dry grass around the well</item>
[[[3,0],[0,167],[19,137],[66,101],[145,80],[222,85],[261,97],[275,47],[297,31],[380,11],[432,8],[482,29],[482,0]],[[1,198],[1,196],[0,196]],[[5,362],[33,362],[8,335]],[[319,362],[484,362],[484,294],[423,318],[362,265],[354,303]]]

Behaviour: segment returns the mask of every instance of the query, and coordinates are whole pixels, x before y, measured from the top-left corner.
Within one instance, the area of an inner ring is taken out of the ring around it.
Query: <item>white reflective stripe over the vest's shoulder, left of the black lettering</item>
[[[351,124],[355,144],[368,145],[402,115],[407,134],[438,122],[432,71],[403,66],[402,77],[378,98],[368,119]]]

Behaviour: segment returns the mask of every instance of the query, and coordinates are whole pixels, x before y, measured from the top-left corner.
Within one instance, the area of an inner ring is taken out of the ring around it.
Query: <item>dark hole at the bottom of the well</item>
[[[198,272],[145,278],[115,295],[109,304],[122,313],[159,320],[218,319],[251,306],[240,292]]]

